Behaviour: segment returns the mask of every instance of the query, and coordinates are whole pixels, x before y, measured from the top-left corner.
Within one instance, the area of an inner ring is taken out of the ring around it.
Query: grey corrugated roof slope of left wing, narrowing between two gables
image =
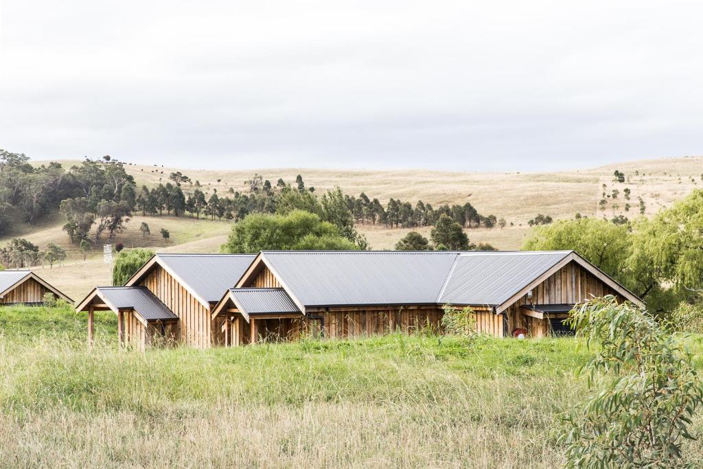
[[[207,302],[219,302],[244,275],[253,254],[157,254],[160,262]]]

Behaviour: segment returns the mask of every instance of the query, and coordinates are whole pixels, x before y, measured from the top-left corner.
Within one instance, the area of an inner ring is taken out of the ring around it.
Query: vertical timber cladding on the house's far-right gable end
[[[569,262],[532,289],[532,300],[528,300],[527,295],[524,295],[505,310],[508,312],[508,327],[510,331],[524,328],[533,337],[543,337],[549,334],[548,319],[525,316],[521,311],[523,304],[574,304],[604,295],[615,295],[619,301],[623,300],[599,278],[576,262]]]

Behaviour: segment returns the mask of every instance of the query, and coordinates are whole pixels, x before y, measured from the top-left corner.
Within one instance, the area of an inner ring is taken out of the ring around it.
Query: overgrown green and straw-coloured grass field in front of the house
[[[117,351],[115,323],[98,314],[86,352],[71,309],[0,308],[0,467],[553,468],[560,413],[586,390],[570,339],[140,353]]]

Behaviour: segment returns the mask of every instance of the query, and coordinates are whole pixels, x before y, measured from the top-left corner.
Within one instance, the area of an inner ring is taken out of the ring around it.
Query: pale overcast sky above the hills
[[[529,171],[703,153],[699,1],[0,0],[0,148]]]

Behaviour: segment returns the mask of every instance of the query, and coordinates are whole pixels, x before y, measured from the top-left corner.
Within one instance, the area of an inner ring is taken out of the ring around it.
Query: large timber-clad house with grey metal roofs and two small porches
[[[124,286],[96,287],[77,305],[118,316],[121,342],[157,337],[193,347],[243,345],[441,327],[443,307],[471,307],[479,333],[566,332],[573,305],[614,295],[643,302],[574,251],[262,251],[157,254]]]

